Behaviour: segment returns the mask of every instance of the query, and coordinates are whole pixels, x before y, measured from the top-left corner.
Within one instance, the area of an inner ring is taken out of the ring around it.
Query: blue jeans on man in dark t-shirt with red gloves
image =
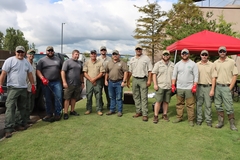
[[[49,116],[53,115],[52,106],[55,108],[55,116],[59,116],[62,111],[62,83],[61,81],[49,81],[48,85],[42,84],[43,95],[45,98],[46,113]],[[54,94],[53,94],[54,93]],[[54,102],[52,101],[54,97]]]

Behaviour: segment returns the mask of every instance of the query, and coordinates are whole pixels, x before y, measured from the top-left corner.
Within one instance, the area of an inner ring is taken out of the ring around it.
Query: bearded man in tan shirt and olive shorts
[[[169,121],[167,116],[168,104],[171,99],[171,80],[174,69],[174,63],[170,61],[170,52],[163,51],[162,60],[158,61],[152,70],[154,90],[156,91],[154,105],[154,118],[153,123],[158,123],[158,113],[160,104],[163,103],[162,119]]]

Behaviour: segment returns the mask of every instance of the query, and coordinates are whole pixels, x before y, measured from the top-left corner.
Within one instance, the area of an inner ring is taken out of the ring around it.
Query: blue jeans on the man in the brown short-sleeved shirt
[[[118,106],[118,112],[122,112],[122,93],[123,87],[121,86],[122,81],[112,82],[108,81],[108,93],[110,97],[110,111],[115,112],[116,105]]]

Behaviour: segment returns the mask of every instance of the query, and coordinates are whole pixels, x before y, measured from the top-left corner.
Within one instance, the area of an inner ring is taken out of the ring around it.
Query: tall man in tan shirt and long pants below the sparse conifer
[[[132,78],[133,99],[136,106],[136,114],[133,118],[142,117],[143,121],[148,121],[148,87],[151,85],[152,63],[148,56],[142,54],[142,46],[135,46],[135,57],[129,62],[128,87]]]

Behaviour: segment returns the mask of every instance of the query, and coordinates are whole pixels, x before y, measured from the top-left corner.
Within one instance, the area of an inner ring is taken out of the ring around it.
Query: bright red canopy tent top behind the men
[[[228,55],[240,54],[240,39],[204,30],[192,34],[167,47],[170,52],[180,53],[187,48],[191,54],[200,54],[202,50],[207,50],[210,55],[218,55],[218,48],[225,46]]]

